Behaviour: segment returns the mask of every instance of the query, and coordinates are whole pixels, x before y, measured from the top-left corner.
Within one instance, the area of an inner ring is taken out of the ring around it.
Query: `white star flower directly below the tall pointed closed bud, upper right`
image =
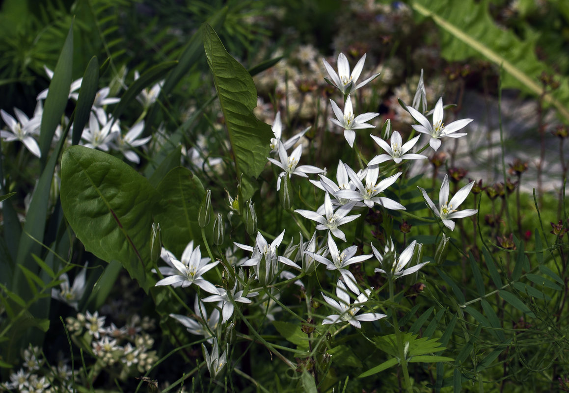
[[[440,147],[439,138],[443,138],[443,136],[448,136],[449,138],[460,138],[461,136],[467,135],[466,133],[455,133],[456,131],[463,129],[473,120],[460,119],[445,126],[443,123],[443,97],[440,97],[439,101],[436,102],[435,109],[432,113],[432,124],[414,107],[407,106],[407,110],[409,110],[411,116],[420,123],[418,125],[413,125],[413,129],[418,133],[431,135],[431,139],[428,143],[434,151],[437,151]]]

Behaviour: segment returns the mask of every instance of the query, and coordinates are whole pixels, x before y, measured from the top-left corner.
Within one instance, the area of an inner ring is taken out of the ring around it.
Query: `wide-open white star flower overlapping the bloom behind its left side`
[[[345,164],[344,164],[345,165]],[[352,180],[352,183],[356,185],[357,190],[340,190],[334,193],[335,197],[346,198],[352,201],[362,201],[368,208],[372,208],[374,204],[384,206],[386,209],[391,210],[406,210],[405,206],[399,202],[395,202],[393,199],[387,197],[378,196],[381,192],[384,192],[387,187],[397,181],[401,173],[395,173],[393,176],[389,176],[384,180],[377,183],[377,178],[380,175],[380,169],[377,165],[365,168],[365,186],[362,183],[360,176],[349,166],[345,165],[348,176]],[[364,174],[362,173],[362,175]]]

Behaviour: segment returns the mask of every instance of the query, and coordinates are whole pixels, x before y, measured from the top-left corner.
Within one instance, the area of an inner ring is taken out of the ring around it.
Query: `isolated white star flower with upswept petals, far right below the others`
[[[440,186],[439,191],[439,208],[437,209],[435,204],[432,202],[431,198],[428,197],[427,192],[423,188],[420,191],[423,193],[425,202],[428,207],[435,213],[435,216],[443,220],[443,224],[450,230],[455,229],[455,223],[451,221],[453,218],[464,218],[468,216],[473,216],[478,213],[478,209],[464,209],[460,212],[456,210],[462,202],[466,199],[470,193],[474,181],[471,181],[463,188],[456,192],[455,196],[452,197],[451,201],[448,201],[448,195],[450,193],[450,187],[448,185],[448,175],[444,175],[443,184]]]

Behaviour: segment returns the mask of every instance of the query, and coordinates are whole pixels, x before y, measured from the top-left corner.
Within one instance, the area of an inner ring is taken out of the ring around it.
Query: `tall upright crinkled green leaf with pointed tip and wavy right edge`
[[[247,70],[225,50],[211,26],[204,29],[204,48],[225,118],[238,177],[259,176],[269,155],[271,127],[255,117],[257,89]],[[242,189],[242,192],[244,190]],[[244,200],[252,196],[247,189]]]

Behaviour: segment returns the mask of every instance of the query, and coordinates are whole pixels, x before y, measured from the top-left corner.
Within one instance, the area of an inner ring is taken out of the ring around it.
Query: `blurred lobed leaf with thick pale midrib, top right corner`
[[[411,6],[420,15],[432,18],[441,28],[441,54],[444,59],[457,61],[469,57],[483,57],[504,69],[502,87],[522,89],[540,96],[543,87],[538,77],[551,67],[537,59],[535,40],[537,36],[520,40],[512,30],[498,27],[488,9],[489,0],[482,2],[463,0],[414,0]],[[543,95],[543,100],[555,106],[560,114],[569,119],[569,84],[560,79],[555,92]]]

